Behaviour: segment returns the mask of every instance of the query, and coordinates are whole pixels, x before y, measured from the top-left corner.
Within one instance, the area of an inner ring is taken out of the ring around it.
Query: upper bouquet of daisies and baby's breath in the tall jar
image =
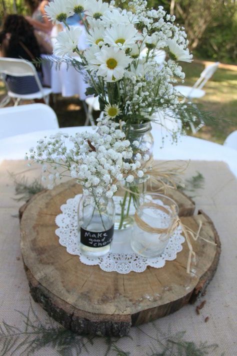
[[[105,118],[122,119],[130,126],[153,120],[157,110],[168,110],[175,119],[192,121],[190,107],[179,100],[173,87],[185,76],[179,62],[192,58],[184,28],[175,25],[175,17],[162,6],[146,7],[143,0],[129,1],[127,9],[115,6],[115,1],[50,2],[45,7],[47,16],[66,26],[56,38],[54,54],[59,60],[80,57],[77,67],[87,73],[87,94],[98,95]],[[74,13],[87,31],[89,47],[84,52],[77,46],[81,29],[66,23]],[[163,51],[166,60],[160,65],[157,58]]]

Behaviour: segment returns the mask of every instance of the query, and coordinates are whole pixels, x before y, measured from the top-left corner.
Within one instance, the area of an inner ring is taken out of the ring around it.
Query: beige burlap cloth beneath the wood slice
[[[19,248],[19,221],[16,216],[22,202],[15,201],[14,184],[8,172],[24,172],[32,179],[40,174],[40,168],[27,168],[25,161],[3,161],[0,163],[0,324],[4,319],[14,326],[22,326],[22,317],[18,311],[27,313],[30,305],[29,288],[23,270]],[[192,161],[185,175],[193,176],[196,171],[203,174],[204,188],[192,192],[197,209],[201,208],[210,216],[221,240],[221,255],[219,265],[213,280],[207,287],[207,293],[201,300],[206,304],[195,312],[195,305],[187,305],[179,311],[140,326],[132,328],[132,338],[122,338],[116,344],[123,351],[130,351],[131,356],[151,354],[150,346],[157,343],[156,328],[162,332],[159,340],[177,331],[186,331],[184,338],[188,341],[207,341],[217,343],[218,348],[208,353],[211,356],[236,356],[236,271],[237,271],[237,180],[223,162]],[[33,309],[42,320],[47,314],[31,299]],[[18,310],[18,311],[17,311]],[[204,322],[208,316],[208,322]],[[149,336],[148,336],[149,335]],[[106,351],[105,341],[95,338],[93,345],[87,344],[81,355],[103,356]],[[18,353],[17,353],[18,352]],[[10,353],[5,353],[10,354]],[[16,351],[16,355],[20,352]],[[37,356],[58,353],[53,348],[43,348],[33,353]],[[116,351],[109,354],[116,355]],[[170,353],[175,354],[177,353]],[[66,355],[65,355],[66,356]],[[179,355],[177,355],[179,356]]]

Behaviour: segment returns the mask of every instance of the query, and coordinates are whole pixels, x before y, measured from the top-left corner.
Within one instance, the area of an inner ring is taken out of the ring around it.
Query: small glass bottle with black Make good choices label
[[[109,252],[114,229],[115,208],[112,198],[85,194],[78,205],[80,250],[87,257]]]

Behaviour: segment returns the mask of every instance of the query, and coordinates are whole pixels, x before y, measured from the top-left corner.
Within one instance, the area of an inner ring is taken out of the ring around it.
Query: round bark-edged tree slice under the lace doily
[[[147,267],[142,273],[104,272],[66,252],[55,235],[55,216],[61,204],[80,192],[74,181],[44,190],[20,209],[21,253],[30,292],[48,314],[79,333],[125,335],[132,325],[167,315],[193,301],[212,278],[220,242],[210,219],[199,212],[182,217],[196,231],[202,221],[203,239],[192,241],[196,265],[186,273],[188,248],[163,268]]]

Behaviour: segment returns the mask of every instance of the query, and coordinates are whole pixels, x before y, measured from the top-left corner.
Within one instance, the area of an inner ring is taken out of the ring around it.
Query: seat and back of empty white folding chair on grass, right
[[[200,73],[200,77],[194,83],[193,86],[187,85],[176,85],[174,86],[175,90],[178,91],[181,96],[184,97],[184,100],[199,99],[205,95],[205,91],[202,90],[202,87],[205,85],[207,80],[214,74],[218,68],[219,62],[208,65]]]

